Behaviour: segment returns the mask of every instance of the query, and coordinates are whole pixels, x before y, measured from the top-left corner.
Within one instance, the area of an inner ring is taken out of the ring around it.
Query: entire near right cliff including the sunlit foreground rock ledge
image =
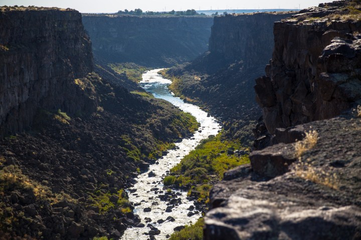
[[[339,1],[274,24],[255,86],[256,146],[270,146],[211,190],[205,239],[361,237],[359,10]]]

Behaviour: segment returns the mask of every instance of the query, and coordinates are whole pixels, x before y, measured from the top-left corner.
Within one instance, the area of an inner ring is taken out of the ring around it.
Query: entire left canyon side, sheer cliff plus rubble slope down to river
[[[123,190],[195,118],[94,66],[74,10],[0,8],[0,239],[120,237]]]

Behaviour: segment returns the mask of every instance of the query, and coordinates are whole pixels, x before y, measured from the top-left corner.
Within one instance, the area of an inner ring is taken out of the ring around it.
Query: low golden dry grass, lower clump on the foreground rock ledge
[[[338,179],[336,173],[330,174],[324,170],[319,170],[310,163],[298,162],[295,166],[296,176],[310,180],[311,182],[338,189]]]

